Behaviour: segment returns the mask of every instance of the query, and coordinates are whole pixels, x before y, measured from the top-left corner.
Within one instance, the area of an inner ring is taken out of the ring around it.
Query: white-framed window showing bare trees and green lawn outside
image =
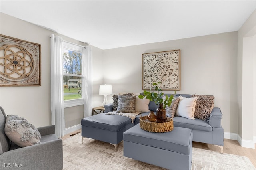
[[[83,52],[80,45],[63,43],[64,107],[83,105]]]

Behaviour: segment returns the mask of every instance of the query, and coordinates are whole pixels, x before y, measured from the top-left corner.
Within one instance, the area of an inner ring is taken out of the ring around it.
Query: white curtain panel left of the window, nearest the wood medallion
[[[51,111],[52,125],[58,138],[65,134],[63,101],[63,40],[51,35]]]

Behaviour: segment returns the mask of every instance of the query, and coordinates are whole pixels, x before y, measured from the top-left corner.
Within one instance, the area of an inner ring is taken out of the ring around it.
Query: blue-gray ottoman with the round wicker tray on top
[[[124,132],[124,156],[171,170],[190,170],[191,129],[174,127],[171,132],[152,133],[135,125]]]

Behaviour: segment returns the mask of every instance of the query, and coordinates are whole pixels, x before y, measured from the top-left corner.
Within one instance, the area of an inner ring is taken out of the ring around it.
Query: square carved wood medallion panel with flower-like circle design
[[[41,85],[41,45],[0,34],[0,86]]]

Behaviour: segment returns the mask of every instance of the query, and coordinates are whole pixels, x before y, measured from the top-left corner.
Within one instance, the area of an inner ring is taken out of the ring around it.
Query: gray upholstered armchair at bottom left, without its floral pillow
[[[63,168],[62,139],[57,138],[54,125],[38,128],[42,143],[20,148],[4,133],[6,114],[2,107],[0,112],[1,170],[60,170]]]

